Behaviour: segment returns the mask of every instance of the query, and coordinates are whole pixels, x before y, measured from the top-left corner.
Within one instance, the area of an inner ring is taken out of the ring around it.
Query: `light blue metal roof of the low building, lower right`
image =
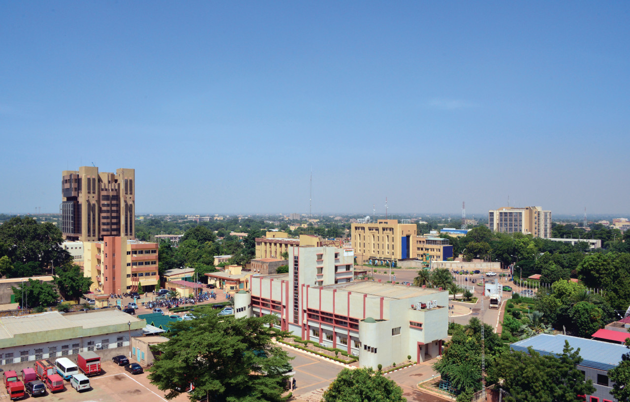
[[[569,341],[569,345],[574,351],[580,348],[580,356],[584,359],[580,365],[592,367],[593,369],[612,370],[621,362],[621,356],[628,352],[628,349],[619,343],[577,338],[576,336],[546,334],[532,336],[531,338],[512,343],[510,348],[527,353],[527,348],[532,347],[541,355],[562,354],[565,340]]]

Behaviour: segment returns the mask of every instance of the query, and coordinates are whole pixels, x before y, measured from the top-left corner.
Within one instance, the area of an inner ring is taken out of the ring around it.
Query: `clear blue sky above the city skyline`
[[[630,3],[0,3],[0,212],[627,214]],[[380,211],[379,211],[380,209]]]

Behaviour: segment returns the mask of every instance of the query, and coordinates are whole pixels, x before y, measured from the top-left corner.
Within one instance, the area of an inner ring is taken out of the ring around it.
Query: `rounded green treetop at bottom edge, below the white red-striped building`
[[[343,369],[328,386],[323,402],[404,402],[403,389],[380,371]]]

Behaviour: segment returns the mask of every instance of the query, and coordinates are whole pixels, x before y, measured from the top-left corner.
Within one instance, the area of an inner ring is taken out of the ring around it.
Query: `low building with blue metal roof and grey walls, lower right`
[[[562,354],[564,341],[568,341],[574,351],[580,348],[580,357],[584,360],[577,365],[577,369],[584,373],[585,379],[593,381],[595,392],[586,395],[585,400],[588,402],[616,401],[617,399],[610,394],[613,383],[608,377],[608,372],[619,365],[622,355],[627,352],[624,345],[568,335],[540,334],[512,343],[510,349],[528,353],[527,348],[532,347],[541,355],[556,355]]]

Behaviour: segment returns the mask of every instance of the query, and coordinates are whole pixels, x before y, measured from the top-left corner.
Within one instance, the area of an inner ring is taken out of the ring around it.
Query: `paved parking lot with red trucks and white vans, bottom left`
[[[31,398],[26,394],[25,398],[31,401],[41,402],[144,402],[166,401],[164,393],[149,383],[147,373],[132,375],[126,372],[124,367],[119,367],[112,362],[103,362],[103,372],[99,376],[89,377],[91,389],[77,393],[68,381],[65,381],[66,389],[58,393],[47,393],[45,396]],[[6,393],[3,393],[4,398]],[[3,399],[8,400],[8,399]],[[180,395],[171,401],[187,402],[186,394]]]

